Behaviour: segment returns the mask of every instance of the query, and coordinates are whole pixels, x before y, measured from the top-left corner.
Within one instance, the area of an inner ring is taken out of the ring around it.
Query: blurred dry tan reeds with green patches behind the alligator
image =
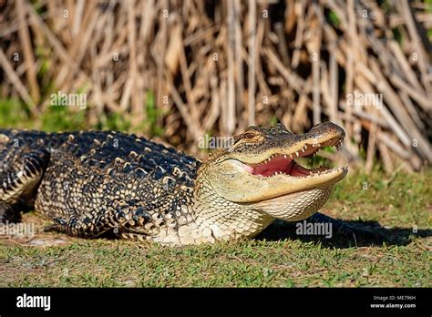
[[[420,170],[431,26],[432,0],[0,0],[0,128],[121,130],[202,158],[206,133],[332,120],[347,142],[329,158]]]

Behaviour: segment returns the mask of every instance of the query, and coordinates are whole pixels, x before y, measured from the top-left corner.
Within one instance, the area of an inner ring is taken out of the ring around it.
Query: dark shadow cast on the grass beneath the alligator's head
[[[373,220],[334,220],[321,213],[316,213],[306,220],[307,223],[331,223],[332,235],[329,238],[322,235],[300,235],[296,233],[298,223],[302,221],[287,222],[275,220],[263,230],[255,239],[257,240],[302,240],[305,242],[320,242],[324,248],[353,248],[373,247],[386,245],[403,246],[410,243],[415,237],[426,238],[432,236],[432,230],[412,228],[385,228]]]

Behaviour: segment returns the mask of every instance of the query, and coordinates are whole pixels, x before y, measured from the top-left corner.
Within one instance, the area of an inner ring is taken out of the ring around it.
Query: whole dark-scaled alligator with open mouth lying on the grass
[[[340,148],[344,138],[332,122],[301,135],[251,126],[201,162],[115,131],[0,129],[0,222],[34,209],[54,230],[83,238],[252,238],[273,220],[304,220],[323,207],[347,168],[306,169],[297,158]]]

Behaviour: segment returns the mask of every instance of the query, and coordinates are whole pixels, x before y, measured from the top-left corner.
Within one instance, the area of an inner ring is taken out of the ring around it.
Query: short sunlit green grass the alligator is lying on
[[[379,231],[386,242],[349,234],[299,239],[284,224],[256,240],[176,248],[45,233],[67,243],[0,240],[0,286],[430,287],[431,176],[431,169],[391,177],[376,170],[337,185],[322,211]]]

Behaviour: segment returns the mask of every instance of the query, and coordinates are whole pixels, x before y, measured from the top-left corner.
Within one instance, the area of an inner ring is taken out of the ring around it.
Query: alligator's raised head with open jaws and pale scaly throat
[[[213,235],[254,236],[274,219],[303,220],[319,210],[346,168],[306,169],[296,159],[324,146],[339,148],[345,132],[332,122],[295,135],[282,124],[250,127],[201,166],[197,219]],[[226,223],[231,223],[227,228]]]

